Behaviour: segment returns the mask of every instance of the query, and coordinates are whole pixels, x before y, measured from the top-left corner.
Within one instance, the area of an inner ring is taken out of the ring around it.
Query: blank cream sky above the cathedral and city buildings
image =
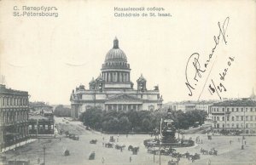
[[[58,17],[15,17],[14,7],[21,12],[25,5],[55,7]],[[172,16],[114,17],[114,7],[164,8],[154,13]],[[220,87],[221,98],[248,97],[253,88],[256,93],[255,1],[2,0],[0,15],[0,73],[8,88],[28,91],[30,101],[70,104],[74,88],[84,84],[88,89],[91,78],[99,76],[114,37],[131,66],[135,88],[143,74],[148,89],[159,85],[164,102],[219,100],[216,91],[209,91],[212,81],[226,89]],[[227,17],[227,43],[220,37],[206,71],[195,82],[195,56],[189,57],[200,54],[203,70],[219,34],[218,22],[223,26]],[[230,57],[234,60],[229,63]],[[187,63],[192,96],[185,84]]]

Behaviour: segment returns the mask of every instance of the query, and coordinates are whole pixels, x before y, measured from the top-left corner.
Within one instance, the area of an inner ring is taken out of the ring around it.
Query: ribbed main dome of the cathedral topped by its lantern
[[[108,60],[123,60],[127,61],[123,50],[119,48],[119,40],[115,37],[113,40],[113,48],[106,54],[105,61]]]

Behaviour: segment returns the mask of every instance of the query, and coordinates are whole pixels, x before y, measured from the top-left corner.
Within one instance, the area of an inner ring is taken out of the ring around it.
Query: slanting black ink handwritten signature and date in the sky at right
[[[185,70],[185,77],[186,77],[185,85],[189,89],[189,96],[193,95],[193,90],[195,90],[196,84],[199,83],[201,77],[207,71],[207,67],[211,63],[212,57],[214,55],[215,50],[218,48],[218,45],[221,42],[223,42],[225,45],[228,43],[227,42],[227,37],[228,37],[227,29],[229,26],[229,21],[230,21],[230,17],[227,17],[224,20],[223,24],[220,24],[220,22],[218,22],[218,36],[213,37],[214,47],[212,48],[211,53],[208,55],[205,63],[203,63],[201,65],[201,63],[199,62],[199,59],[200,59],[199,53],[194,53],[189,56],[189,60],[187,61],[186,70]],[[233,58],[230,57],[230,60],[233,61],[234,57]],[[230,61],[228,64],[230,65]],[[192,70],[189,70],[188,66],[190,66],[190,65],[192,65]],[[211,68],[211,70],[212,70],[212,68]],[[211,70],[210,70],[209,74],[211,73]],[[225,69],[224,72],[219,73],[219,75],[221,76],[221,78],[220,78],[221,80],[224,80],[227,70],[228,69]],[[209,74],[208,74],[208,76],[209,76]],[[213,83],[213,80],[212,80],[212,83]],[[213,84],[209,86],[209,92],[211,94],[214,93],[215,91],[217,91],[216,88],[212,87]],[[226,88],[224,88],[222,83],[219,84],[218,88],[221,90],[226,90]],[[213,89],[214,89],[214,91],[213,91]],[[218,94],[218,96],[220,97],[219,94]]]

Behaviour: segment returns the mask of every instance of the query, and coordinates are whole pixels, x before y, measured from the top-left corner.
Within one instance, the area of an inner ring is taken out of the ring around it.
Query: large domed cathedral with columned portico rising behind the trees
[[[137,88],[133,87],[130,77],[130,65],[126,55],[119,48],[119,40],[113,40],[113,48],[106,54],[102,64],[102,73],[92,78],[89,89],[80,85],[73,90],[70,101],[72,117],[93,107],[115,111],[155,111],[162,106],[159,87],[148,90],[147,80],[141,75],[137,79]]]

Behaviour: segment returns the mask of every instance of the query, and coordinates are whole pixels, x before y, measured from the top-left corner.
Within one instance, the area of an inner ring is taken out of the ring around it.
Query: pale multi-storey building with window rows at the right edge
[[[256,133],[256,101],[250,99],[226,100],[211,107],[212,128],[240,130],[245,134]]]

